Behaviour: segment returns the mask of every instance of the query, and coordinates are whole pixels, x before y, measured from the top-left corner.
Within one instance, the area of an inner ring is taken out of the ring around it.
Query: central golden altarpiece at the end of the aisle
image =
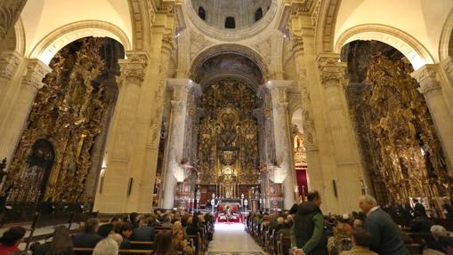
[[[195,130],[199,183],[215,186],[218,197],[239,198],[259,184],[255,92],[238,81],[221,80],[206,88],[199,107],[204,110]]]

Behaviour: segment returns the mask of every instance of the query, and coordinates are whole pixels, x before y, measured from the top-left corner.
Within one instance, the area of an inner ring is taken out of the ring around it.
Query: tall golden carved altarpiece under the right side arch
[[[386,44],[354,42],[348,62],[347,98],[378,199],[447,195],[441,143],[409,61]]]

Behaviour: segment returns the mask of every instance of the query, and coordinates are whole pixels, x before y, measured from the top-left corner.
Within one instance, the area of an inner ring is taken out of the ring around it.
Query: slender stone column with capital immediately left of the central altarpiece
[[[164,181],[164,209],[174,208],[174,191],[178,181],[184,180],[184,170],[180,165],[183,156],[185,124],[187,116],[187,95],[193,83],[190,79],[167,79],[173,89],[172,110],[168,130],[166,152],[166,173]]]

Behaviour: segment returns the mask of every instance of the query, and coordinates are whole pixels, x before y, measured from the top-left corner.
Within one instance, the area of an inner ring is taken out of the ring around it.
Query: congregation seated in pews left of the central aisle
[[[66,226],[55,227],[51,240],[32,243],[29,251],[32,255],[72,255],[83,248],[89,249],[89,254],[93,255],[117,255],[122,254],[121,251],[134,249],[133,243],[150,243],[150,254],[194,255],[197,254],[196,249],[201,247],[190,236],[199,237],[203,233],[204,238],[212,240],[214,217],[210,213],[163,213],[157,210],[150,215],[131,213],[125,217],[113,216],[103,224],[97,218],[87,219],[83,225],[81,231],[74,235]],[[205,232],[204,229],[210,231]],[[29,254],[19,248],[25,234],[24,227],[11,227],[4,232],[0,238],[0,255]]]

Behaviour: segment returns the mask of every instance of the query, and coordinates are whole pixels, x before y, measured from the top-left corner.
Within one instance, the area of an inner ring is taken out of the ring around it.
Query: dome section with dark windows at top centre
[[[213,28],[249,28],[271,9],[271,0],[191,0],[200,20]]]

